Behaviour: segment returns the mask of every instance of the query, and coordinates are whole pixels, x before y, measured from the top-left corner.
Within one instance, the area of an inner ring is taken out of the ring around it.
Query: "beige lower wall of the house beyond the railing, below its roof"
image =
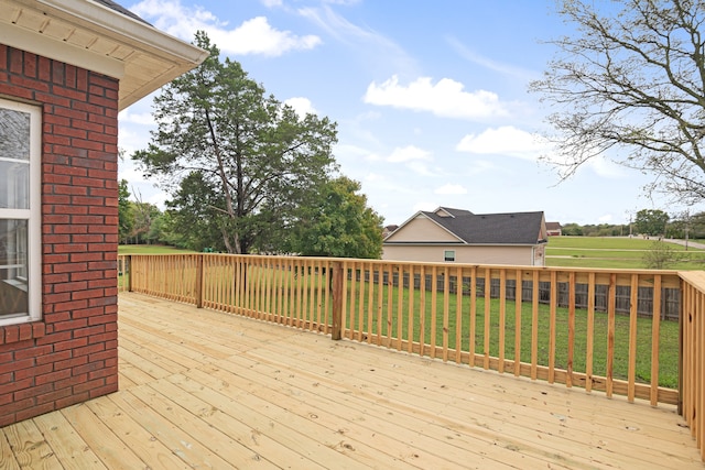
[[[438,244],[434,247],[419,244],[393,245],[384,244],[382,259],[394,261],[421,261],[431,263],[442,263],[446,250],[455,250],[456,263],[471,264],[511,264],[511,265],[533,265],[534,247],[482,247],[482,245],[447,245]],[[543,265],[540,263],[539,265]]]

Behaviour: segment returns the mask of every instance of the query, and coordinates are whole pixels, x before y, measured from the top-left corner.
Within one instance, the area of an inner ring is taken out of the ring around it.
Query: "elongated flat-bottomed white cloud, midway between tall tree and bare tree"
[[[445,118],[486,119],[508,116],[507,105],[497,94],[486,90],[465,91],[465,86],[451,78],[433,84],[430,77],[420,77],[408,86],[400,85],[394,75],[382,84],[372,81],[364,101],[369,105],[391,106],[414,111],[429,111]]]

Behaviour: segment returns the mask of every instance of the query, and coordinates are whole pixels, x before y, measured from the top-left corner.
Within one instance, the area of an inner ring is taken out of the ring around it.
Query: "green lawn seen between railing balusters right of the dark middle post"
[[[399,325],[399,304],[398,295],[399,291],[393,287],[392,302],[393,309],[391,316],[391,328],[388,331],[386,305],[387,305],[387,292],[383,293],[381,308],[377,305],[377,294],[372,295],[372,305],[368,304],[367,288],[368,283],[365,283],[364,292],[364,308],[362,318],[359,317],[359,311],[355,311],[355,318],[352,319],[354,326],[357,327],[360,323],[366,328],[369,321],[367,311],[381,311],[381,317],[373,315],[371,319],[372,329],[371,332],[377,331],[377,323],[381,320],[380,329],[382,335],[397,336]],[[359,310],[359,283],[356,287],[355,294],[348,294],[348,304],[350,296],[354,295],[357,305],[356,310]],[[401,331],[402,339],[409,339],[409,321],[413,323],[413,341],[421,341],[421,325],[423,320],[424,332],[423,341],[431,345],[443,345],[444,338],[444,318],[443,318],[443,296],[442,293],[436,297],[436,317],[435,317],[435,331],[436,338],[433,341],[432,338],[432,325],[434,325],[434,318],[432,317],[433,298],[432,293],[426,292],[424,295],[423,308],[420,299],[419,291],[414,292],[413,310],[410,313],[409,308],[409,289],[402,291],[401,302]],[[456,295],[451,294],[448,298],[448,305],[451,311],[447,318],[447,341],[449,348],[454,349],[456,345]],[[348,305],[348,318],[350,309]],[[470,298],[469,296],[463,296],[462,305],[462,320],[460,320],[460,343],[464,351],[469,350],[470,345],[470,326],[469,326],[469,311],[470,311]],[[500,352],[500,302],[498,299],[490,300],[489,309],[489,354],[491,357],[499,357]],[[539,305],[538,315],[538,363],[541,365],[549,364],[549,343],[550,343],[550,306],[545,304]],[[346,320],[346,324],[349,321]],[[570,313],[567,308],[556,309],[556,323],[555,323],[555,367],[557,369],[567,369],[568,363],[568,325]],[[517,331],[517,317],[516,317],[516,303],[507,302],[505,310],[505,357],[507,359],[514,358],[514,336]],[[575,342],[573,351],[573,370],[575,372],[586,371],[586,356],[587,356],[587,329],[588,318],[587,310],[576,309],[574,317],[575,325]],[[607,325],[608,315],[605,311],[596,311],[594,317],[594,340],[593,340],[593,373],[595,375],[606,376],[607,374]],[[349,324],[347,325],[349,327]],[[525,303],[521,308],[521,361],[531,363],[532,353],[532,308],[530,303]],[[485,353],[485,299],[478,298],[476,303],[476,320],[475,320],[475,352]],[[614,356],[614,376],[615,379],[627,380],[628,376],[628,359],[629,359],[629,316],[616,315],[615,316],[615,356]],[[651,335],[652,335],[652,320],[651,318],[640,317],[637,320],[637,360],[636,360],[636,378],[638,382],[649,382],[651,380]],[[660,353],[659,353],[659,384],[666,387],[677,387],[677,348],[679,348],[679,324],[676,321],[661,321],[660,326]]]

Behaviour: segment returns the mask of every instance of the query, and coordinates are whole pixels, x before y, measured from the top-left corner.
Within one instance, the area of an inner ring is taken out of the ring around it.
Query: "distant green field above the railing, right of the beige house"
[[[644,254],[654,240],[628,237],[551,237],[546,265],[558,267],[646,269]],[[666,240],[668,242],[668,240]],[[671,243],[684,260],[669,265],[673,270],[705,269],[705,250]]]

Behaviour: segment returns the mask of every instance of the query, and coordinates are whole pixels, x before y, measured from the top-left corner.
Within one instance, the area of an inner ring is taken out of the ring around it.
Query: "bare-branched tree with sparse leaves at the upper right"
[[[649,192],[705,198],[705,3],[701,0],[561,0],[575,33],[538,91],[566,178],[603,155],[654,178]]]

